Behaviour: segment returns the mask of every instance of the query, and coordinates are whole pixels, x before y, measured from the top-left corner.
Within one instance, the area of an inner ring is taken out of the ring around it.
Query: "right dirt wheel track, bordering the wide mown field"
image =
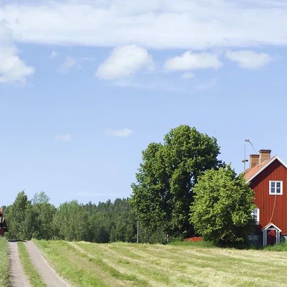
[[[25,247],[29,253],[33,265],[49,287],[70,287],[70,285],[61,279],[56,274],[54,269],[52,269],[50,265],[47,264],[39,249],[32,241],[26,242]]]

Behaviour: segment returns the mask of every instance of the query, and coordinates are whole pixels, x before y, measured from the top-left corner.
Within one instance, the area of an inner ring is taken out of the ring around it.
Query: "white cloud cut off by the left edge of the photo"
[[[12,42],[13,35],[7,25],[7,21],[0,22],[0,83],[24,85],[26,78],[31,76],[35,69],[19,58],[19,51]]]

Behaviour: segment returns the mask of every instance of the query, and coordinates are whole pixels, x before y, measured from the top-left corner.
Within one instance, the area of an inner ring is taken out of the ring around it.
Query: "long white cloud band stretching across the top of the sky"
[[[186,50],[287,45],[285,1],[12,0],[1,6],[2,18],[28,43]]]

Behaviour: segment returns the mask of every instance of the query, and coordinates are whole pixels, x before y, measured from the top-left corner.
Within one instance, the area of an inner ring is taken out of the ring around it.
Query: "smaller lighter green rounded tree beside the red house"
[[[190,222],[203,240],[240,243],[253,233],[254,192],[230,165],[202,175],[194,187],[194,199]]]

